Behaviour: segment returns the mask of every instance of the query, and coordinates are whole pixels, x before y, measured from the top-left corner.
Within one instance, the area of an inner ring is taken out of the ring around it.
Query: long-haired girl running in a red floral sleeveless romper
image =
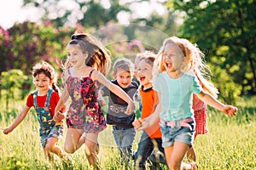
[[[90,165],[99,168],[96,157],[98,133],[106,128],[102,109],[97,101],[96,82],[108,87],[127,102],[126,114],[134,111],[134,103],[125,92],[104,76],[110,65],[108,50],[95,37],[76,31],[67,44],[64,66],[64,89],[55,108],[55,120],[63,118],[61,107],[71,98],[67,111],[67,138],[64,149],[74,153],[85,143],[85,156]]]

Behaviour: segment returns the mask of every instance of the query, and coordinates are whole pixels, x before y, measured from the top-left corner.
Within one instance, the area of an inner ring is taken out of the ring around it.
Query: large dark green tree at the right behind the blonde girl
[[[256,94],[256,1],[176,0],[183,11],[183,37],[207,51],[207,62],[227,72],[241,94]]]

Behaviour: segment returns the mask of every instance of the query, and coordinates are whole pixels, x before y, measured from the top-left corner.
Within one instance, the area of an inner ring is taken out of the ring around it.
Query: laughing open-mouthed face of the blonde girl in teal
[[[174,43],[167,43],[163,53],[163,64],[166,71],[180,71],[184,55]]]

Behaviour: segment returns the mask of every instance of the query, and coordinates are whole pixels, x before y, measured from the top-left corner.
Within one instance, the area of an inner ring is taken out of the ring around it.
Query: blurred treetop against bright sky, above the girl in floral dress
[[[106,2],[106,1],[105,1]],[[44,11],[42,21],[50,20],[54,26],[75,26],[82,23],[84,27],[103,26],[110,20],[117,21],[117,14],[120,11],[130,12],[126,5],[120,5],[119,0],[109,1],[109,7],[103,5],[103,0],[73,1],[72,8],[61,1],[44,0],[38,3],[37,0],[24,0],[23,6],[32,5]]]

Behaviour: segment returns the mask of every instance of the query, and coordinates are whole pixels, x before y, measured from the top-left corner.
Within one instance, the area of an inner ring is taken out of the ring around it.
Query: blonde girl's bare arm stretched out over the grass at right
[[[204,90],[201,93],[196,94],[199,99],[203,102],[207,103],[207,105],[212,106],[213,108],[217,109],[218,111],[222,111],[229,116],[235,116],[237,108],[233,105],[224,105],[218,99],[215,99],[211,94],[207,94]]]

